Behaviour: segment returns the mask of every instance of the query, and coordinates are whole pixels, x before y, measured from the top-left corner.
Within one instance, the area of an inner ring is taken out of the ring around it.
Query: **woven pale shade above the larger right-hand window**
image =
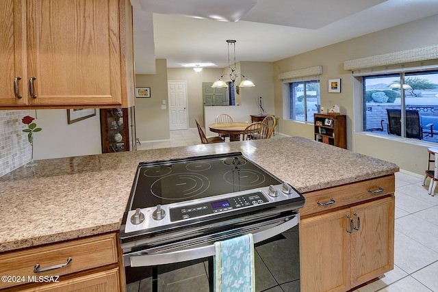
[[[431,59],[438,59],[438,44],[404,51],[396,51],[382,55],[363,57],[360,59],[350,59],[344,62],[344,69],[358,70],[363,68],[373,68],[410,62],[422,62]]]

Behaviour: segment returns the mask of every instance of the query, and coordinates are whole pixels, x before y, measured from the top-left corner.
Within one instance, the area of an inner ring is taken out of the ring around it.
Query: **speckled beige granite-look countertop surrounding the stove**
[[[40,160],[0,177],[0,252],[119,230],[142,161],[237,151],[302,194],[398,171],[302,137]]]

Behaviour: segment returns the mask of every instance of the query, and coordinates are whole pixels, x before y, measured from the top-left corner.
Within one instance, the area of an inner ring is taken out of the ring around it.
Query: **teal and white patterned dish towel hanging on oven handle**
[[[253,235],[214,243],[214,291],[255,292]]]

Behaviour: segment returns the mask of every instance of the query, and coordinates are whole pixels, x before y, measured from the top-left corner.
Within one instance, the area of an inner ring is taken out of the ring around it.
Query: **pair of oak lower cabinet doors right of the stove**
[[[348,291],[394,268],[395,197],[300,222],[302,292]]]

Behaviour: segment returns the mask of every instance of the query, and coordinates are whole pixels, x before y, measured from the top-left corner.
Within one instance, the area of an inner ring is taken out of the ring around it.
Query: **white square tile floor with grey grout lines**
[[[169,142],[140,149],[200,144],[197,129],[171,131]],[[422,176],[396,173],[394,270],[354,292],[438,292],[438,194],[429,196]]]

